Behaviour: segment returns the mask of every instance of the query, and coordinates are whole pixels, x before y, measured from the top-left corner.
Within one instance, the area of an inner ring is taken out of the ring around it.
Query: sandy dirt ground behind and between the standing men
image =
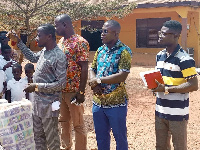
[[[143,88],[139,73],[154,67],[133,66],[126,81],[129,95],[127,115],[127,136],[129,150],[155,150],[155,97]],[[200,80],[200,78],[198,77]],[[199,82],[200,83],[200,82]],[[199,86],[200,87],[200,86]],[[200,149],[200,91],[190,94],[190,119],[188,123],[188,150]],[[97,150],[95,131],[92,120],[92,92],[86,88],[84,119],[87,128],[88,149]],[[111,138],[111,150],[116,149],[114,137]]]

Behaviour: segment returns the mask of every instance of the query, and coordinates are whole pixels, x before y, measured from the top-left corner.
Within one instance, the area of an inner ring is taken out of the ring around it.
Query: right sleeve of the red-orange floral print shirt
[[[89,61],[89,43],[87,41],[77,42],[77,62]]]

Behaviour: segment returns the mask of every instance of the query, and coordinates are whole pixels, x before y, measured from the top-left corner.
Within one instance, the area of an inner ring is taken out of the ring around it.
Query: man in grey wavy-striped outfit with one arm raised
[[[33,83],[25,89],[34,92],[33,131],[36,150],[60,150],[58,135],[59,110],[52,103],[61,101],[66,85],[66,57],[56,44],[55,28],[51,24],[38,27],[36,40],[41,51],[33,53],[14,34],[18,47],[32,63],[37,63]]]

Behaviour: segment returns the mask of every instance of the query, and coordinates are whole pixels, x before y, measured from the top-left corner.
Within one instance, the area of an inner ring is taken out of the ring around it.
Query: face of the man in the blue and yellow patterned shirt
[[[102,27],[101,40],[103,44],[112,44],[117,40],[116,30],[107,22]]]

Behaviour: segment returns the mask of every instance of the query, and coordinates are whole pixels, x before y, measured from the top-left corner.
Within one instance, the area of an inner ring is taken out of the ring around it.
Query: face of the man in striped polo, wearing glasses
[[[158,42],[163,46],[170,46],[175,43],[175,32],[163,26],[158,32]]]

